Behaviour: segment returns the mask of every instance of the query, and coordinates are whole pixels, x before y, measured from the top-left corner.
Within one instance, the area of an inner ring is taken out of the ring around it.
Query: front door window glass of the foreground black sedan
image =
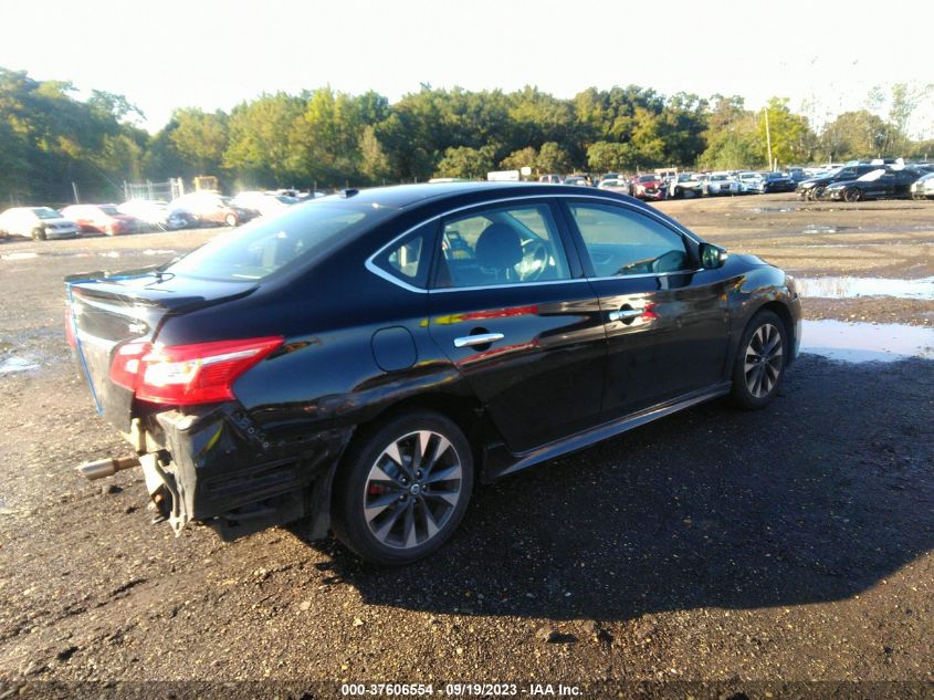
[[[598,278],[678,272],[691,267],[684,239],[646,215],[605,205],[570,205]]]

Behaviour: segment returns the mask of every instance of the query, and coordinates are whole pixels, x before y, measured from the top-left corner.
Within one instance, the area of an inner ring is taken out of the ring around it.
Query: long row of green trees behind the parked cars
[[[676,165],[764,167],[766,112],[779,164],[879,155],[926,157],[905,133],[922,95],[892,91],[889,118],[848,112],[816,133],[788,100],[763,111],[743,97],[664,96],[630,85],[559,100],[535,87],[504,93],[421,90],[395,104],[329,87],[263,94],[230,113],[177,109],[150,135],[125,97],[0,69],[0,200],[114,199],[123,181],[219,175],[228,188],[344,186],[479,178],[494,169],[636,171]]]

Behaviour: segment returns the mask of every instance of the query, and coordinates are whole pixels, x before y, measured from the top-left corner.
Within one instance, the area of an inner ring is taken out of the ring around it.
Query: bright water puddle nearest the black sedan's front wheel
[[[934,359],[934,328],[900,323],[805,321],[801,352],[852,363]]]

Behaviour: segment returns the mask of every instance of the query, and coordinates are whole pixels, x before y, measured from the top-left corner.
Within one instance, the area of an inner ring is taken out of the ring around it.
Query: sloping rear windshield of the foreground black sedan
[[[208,280],[262,280],[290,263],[326,254],[392,213],[385,207],[343,200],[296,205],[283,215],[256,219],[219,236],[166,271]]]

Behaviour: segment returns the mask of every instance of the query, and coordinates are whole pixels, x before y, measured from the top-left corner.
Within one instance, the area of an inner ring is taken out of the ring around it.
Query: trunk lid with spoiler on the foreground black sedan
[[[111,362],[127,341],[155,341],[170,315],[239,299],[255,282],[191,280],[157,271],[65,278],[74,354],[97,412],[124,432],[133,419],[133,391],[111,382]]]

